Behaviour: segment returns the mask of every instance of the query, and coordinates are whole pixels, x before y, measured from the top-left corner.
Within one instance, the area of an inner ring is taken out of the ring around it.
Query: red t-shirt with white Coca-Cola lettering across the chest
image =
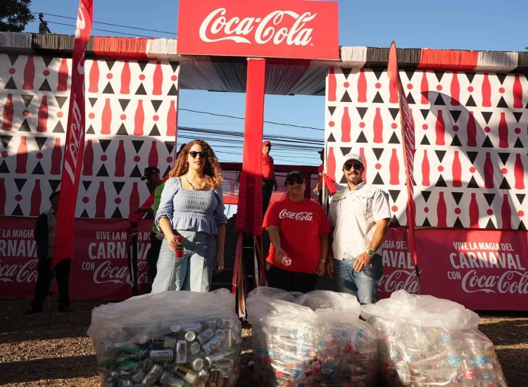
[[[330,227],[322,207],[304,199],[294,202],[286,198],[270,205],[262,227],[279,227],[280,247],[291,259],[291,265],[275,262],[275,247],[270,244],[266,260],[272,265],[291,272],[315,274],[321,259],[322,234],[328,234]]]

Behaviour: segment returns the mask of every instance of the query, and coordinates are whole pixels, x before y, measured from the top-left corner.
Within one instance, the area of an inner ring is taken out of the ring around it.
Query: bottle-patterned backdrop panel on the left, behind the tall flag
[[[0,215],[39,215],[60,188],[70,66],[67,58],[0,54]],[[129,217],[149,195],[144,168],[172,165],[179,73],[169,62],[86,62],[77,217]]]

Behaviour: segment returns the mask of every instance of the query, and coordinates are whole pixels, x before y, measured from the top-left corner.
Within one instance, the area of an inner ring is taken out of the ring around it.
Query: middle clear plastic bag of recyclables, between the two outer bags
[[[267,386],[375,386],[377,346],[355,297],[256,288],[246,305],[253,364]]]

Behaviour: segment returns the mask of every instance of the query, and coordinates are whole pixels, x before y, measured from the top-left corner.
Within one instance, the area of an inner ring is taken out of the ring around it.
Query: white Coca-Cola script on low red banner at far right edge
[[[498,275],[478,275],[470,270],[462,279],[462,288],[466,293],[509,293],[528,294],[528,272],[508,270]]]

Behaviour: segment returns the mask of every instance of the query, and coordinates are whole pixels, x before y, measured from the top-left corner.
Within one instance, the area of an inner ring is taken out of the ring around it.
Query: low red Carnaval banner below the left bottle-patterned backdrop
[[[0,218],[0,294],[31,298],[37,280],[36,218]],[[75,220],[70,297],[122,300],[131,296],[127,267],[128,220]],[[152,221],[139,222],[138,283],[146,279],[146,253]]]

